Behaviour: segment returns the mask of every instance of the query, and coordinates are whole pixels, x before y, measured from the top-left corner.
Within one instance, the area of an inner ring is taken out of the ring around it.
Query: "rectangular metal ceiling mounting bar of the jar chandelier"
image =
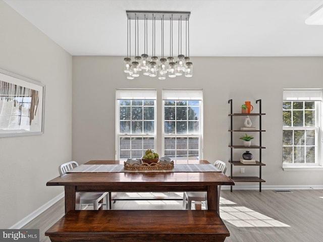
[[[182,19],[185,20],[184,17],[187,17],[189,20],[191,12],[171,12],[171,11],[126,11],[128,19],[139,19],[139,20],[152,20],[152,16],[156,19],[161,19],[164,16],[164,19],[170,19],[173,16],[173,19]]]

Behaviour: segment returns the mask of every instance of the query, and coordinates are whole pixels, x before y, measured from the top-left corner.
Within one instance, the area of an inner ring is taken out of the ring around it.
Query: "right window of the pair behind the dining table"
[[[202,90],[163,90],[163,154],[201,159]]]

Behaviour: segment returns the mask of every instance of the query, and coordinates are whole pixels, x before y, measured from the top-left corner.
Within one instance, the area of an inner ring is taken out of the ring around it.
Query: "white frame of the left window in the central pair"
[[[116,160],[126,160],[120,158],[120,138],[153,138],[154,144],[152,150],[156,150],[156,127],[157,127],[157,113],[156,113],[156,90],[155,89],[117,89],[116,90]],[[154,100],[154,134],[120,134],[120,105],[119,100]],[[130,154],[131,154],[130,148]],[[140,158],[140,157],[128,157]]]

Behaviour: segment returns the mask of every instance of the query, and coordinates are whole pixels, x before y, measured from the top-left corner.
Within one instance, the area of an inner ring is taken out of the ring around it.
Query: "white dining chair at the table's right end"
[[[216,162],[214,162],[214,165],[217,166],[223,173],[226,173],[227,167],[225,162],[221,160],[217,160]],[[218,186],[218,201],[220,201],[220,191],[221,191],[221,186]],[[199,203],[205,202],[207,200],[206,195],[207,195],[206,192],[184,192],[183,209],[191,210],[192,201],[199,202]],[[207,209],[206,202],[205,202],[205,208]],[[218,204],[218,211],[219,211],[219,204]]]

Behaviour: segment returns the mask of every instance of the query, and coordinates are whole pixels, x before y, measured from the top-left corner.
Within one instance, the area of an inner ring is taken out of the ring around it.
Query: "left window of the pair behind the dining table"
[[[116,158],[139,158],[155,149],[156,90],[117,89]]]

